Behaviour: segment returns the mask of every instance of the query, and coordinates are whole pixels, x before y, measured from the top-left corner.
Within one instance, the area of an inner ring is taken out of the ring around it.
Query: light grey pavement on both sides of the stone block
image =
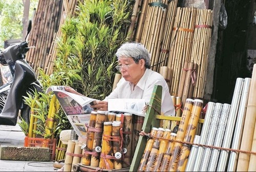
[[[0,126],[0,145],[24,146],[25,134],[16,126]],[[0,160],[0,171],[56,171],[53,161]]]

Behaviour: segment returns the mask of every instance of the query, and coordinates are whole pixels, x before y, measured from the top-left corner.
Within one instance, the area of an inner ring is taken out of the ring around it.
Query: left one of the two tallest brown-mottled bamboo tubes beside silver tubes
[[[177,137],[176,137],[177,141],[183,141],[183,139],[185,137],[185,134],[186,134],[185,132],[186,132],[186,129],[187,129],[187,125],[188,125],[188,121],[189,121],[189,118],[190,118],[191,110],[193,108],[193,104],[194,104],[193,99],[187,99],[186,102],[185,102],[185,106],[184,106],[183,113],[182,113],[182,116],[181,116],[179,129],[178,129],[178,132],[177,132]],[[172,156],[170,157],[168,171],[176,171],[181,148],[182,148],[182,143],[175,142],[174,150],[172,152]]]

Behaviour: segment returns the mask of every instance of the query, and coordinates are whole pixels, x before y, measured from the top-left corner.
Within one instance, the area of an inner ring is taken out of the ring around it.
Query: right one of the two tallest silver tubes
[[[232,149],[240,149],[242,135],[243,135],[243,125],[245,120],[246,106],[248,102],[249,88],[251,84],[251,78],[244,79],[244,87],[241,95],[241,102],[239,105],[238,117],[236,122],[236,128],[234,130]],[[238,153],[230,152],[229,162],[227,166],[227,171],[236,171],[237,169],[237,161],[238,161]]]

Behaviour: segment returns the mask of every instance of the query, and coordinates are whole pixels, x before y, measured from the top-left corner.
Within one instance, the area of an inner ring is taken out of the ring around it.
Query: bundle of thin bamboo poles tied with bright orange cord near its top
[[[172,82],[170,84],[170,93],[178,94],[178,87],[184,68],[185,61],[189,62],[191,57],[191,46],[195,29],[197,9],[195,8],[180,8],[177,9],[177,14],[173,26],[172,44],[168,57],[168,65],[173,70]]]

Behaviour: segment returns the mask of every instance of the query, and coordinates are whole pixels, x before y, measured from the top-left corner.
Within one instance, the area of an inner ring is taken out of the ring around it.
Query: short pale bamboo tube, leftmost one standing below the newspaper
[[[74,153],[75,144],[76,144],[76,141],[74,141],[74,140],[69,140],[69,142],[68,142],[68,148],[67,148],[66,158],[65,158],[65,162],[64,162],[65,163],[64,171],[71,171],[73,156],[70,154]]]

